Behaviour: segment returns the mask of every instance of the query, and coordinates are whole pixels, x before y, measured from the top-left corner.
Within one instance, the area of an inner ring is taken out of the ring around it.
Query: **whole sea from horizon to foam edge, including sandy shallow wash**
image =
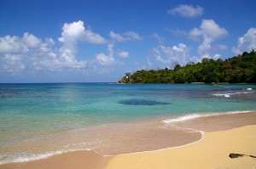
[[[79,149],[101,155],[164,149],[173,134],[196,141],[201,132],[165,124],[255,112],[255,89],[254,84],[0,84],[0,164]]]

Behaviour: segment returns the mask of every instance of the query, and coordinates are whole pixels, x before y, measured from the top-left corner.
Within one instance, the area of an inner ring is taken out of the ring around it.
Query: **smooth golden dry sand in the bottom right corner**
[[[256,126],[239,127],[221,132],[206,132],[201,141],[179,148],[116,155],[108,162],[107,169],[256,168],[255,158],[230,159],[230,153],[256,155]]]

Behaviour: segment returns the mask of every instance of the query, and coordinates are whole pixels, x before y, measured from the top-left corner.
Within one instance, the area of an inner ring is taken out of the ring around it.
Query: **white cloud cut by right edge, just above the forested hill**
[[[238,37],[237,47],[233,47],[232,51],[235,54],[250,52],[256,48],[256,28],[250,28],[243,37]]]

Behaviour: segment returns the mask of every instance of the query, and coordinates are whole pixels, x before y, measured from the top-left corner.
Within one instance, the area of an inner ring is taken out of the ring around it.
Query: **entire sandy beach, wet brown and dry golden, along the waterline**
[[[255,113],[216,115],[176,123],[207,131],[195,143],[126,155],[102,156],[74,151],[39,161],[4,164],[0,169],[101,169],[101,168],[256,168],[256,159],[230,159],[230,153],[256,155]]]

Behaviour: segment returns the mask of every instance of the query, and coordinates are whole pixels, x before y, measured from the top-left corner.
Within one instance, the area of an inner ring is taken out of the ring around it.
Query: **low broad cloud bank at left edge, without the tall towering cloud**
[[[53,50],[55,42],[24,33],[23,37],[0,37],[0,67],[5,72],[18,74],[23,70],[84,69],[86,61],[78,61],[71,49]]]

